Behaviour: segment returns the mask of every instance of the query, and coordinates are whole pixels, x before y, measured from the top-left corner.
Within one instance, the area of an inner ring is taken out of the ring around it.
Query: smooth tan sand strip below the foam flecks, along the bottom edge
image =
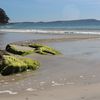
[[[11,96],[1,100],[100,100],[100,84],[57,87],[46,91]]]

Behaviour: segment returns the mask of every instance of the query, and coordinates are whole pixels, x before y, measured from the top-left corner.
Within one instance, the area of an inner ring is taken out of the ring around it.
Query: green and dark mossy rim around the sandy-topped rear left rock
[[[24,48],[24,47],[23,47]],[[16,48],[16,45],[10,45],[8,44],[6,46],[6,50],[10,53],[13,53],[13,54],[18,54],[18,55],[22,55],[22,56],[25,56],[27,54],[31,54],[34,52],[34,50],[18,50]]]

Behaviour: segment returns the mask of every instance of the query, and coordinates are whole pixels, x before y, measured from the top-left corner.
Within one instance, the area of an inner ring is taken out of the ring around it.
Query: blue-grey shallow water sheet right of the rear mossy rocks
[[[55,42],[49,45],[61,51],[66,57],[100,59],[100,39]]]

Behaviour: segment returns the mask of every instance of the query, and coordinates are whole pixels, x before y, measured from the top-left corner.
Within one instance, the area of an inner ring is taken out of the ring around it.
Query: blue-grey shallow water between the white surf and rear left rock
[[[47,39],[54,38],[54,35],[46,34],[34,34],[34,33],[0,33],[0,48],[4,48],[6,44],[25,41],[25,40],[34,40],[34,39]],[[57,36],[56,36],[57,37]]]

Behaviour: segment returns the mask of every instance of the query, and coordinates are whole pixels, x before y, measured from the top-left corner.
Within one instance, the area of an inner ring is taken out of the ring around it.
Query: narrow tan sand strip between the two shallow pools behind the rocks
[[[56,36],[54,34],[54,36]],[[30,40],[24,40],[24,41],[17,41],[12,42],[11,44],[17,44],[17,45],[27,45],[31,44],[33,42],[37,43],[52,43],[52,42],[64,42],[64,41],[78,41],[78,40],[91,40],[91,39],[99,39],[99,34],[66,34],[66,35],[57,35],[58,37],[48,38],[48,39],[30,39]]]

